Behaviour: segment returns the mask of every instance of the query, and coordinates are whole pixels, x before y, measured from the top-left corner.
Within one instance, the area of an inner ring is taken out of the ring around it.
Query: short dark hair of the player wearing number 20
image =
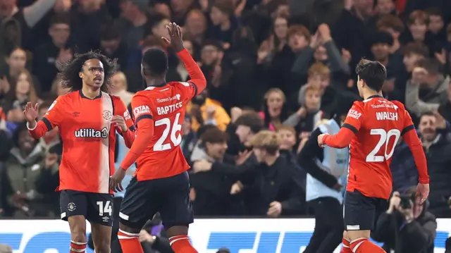
[[[382,63],[378,61],[369,61],[362,59],[355,68],[355,73],[359,75],[359,78],[364,80],[366,85],[371,90],[380,92],[382,90],[383,83],[387,78],[387,70]]]

